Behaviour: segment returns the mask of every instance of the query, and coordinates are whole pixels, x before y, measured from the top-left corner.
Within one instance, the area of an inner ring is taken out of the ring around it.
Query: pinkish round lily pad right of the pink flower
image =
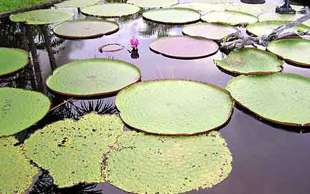
[[[215,41],[192,36],[167,36],[156,39],[149,45],[154,52],[172,58],[203,58],[218,52]]]

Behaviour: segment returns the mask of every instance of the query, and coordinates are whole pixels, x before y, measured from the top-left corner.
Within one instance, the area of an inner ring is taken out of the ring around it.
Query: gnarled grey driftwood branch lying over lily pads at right
[[[256,47],[256,45],[262,45],[264,47],[267,47],[267,45],[269,45],[271,41],[283,39],[288,36],[310,36],[309,30],[305,30],[303,32],[299,31],[284,32],[285,30],[293,28],[294,26],[297,26],[300,23],[303,23],[304,21],[308,21],[309,19],[310,19],[310,13],[307,13],[303,17],[296,19],[296,21],[280,25],[278,28],[274,29],[273,32],[271,32],[271,34],[265,34],[263,36],[258,37],[253,35],[245,36],[241,32],[236,32],[227,37],[227,40],[229,39],[236,39],[236,40],[222,43],[221,48],[224,50],[239,50],[247,45],[252,45],[254,47]]]

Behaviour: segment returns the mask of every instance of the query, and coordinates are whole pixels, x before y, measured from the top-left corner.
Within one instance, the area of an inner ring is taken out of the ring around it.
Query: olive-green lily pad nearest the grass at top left
[[[10,19],[14,22],[23,22],[29,25],[43,25],[66,21],[72,18],[73,15],[74,12],[68,10],[34,10],[12,14]]]

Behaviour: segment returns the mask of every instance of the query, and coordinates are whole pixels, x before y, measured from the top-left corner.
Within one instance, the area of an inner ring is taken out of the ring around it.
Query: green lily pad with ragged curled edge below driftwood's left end
[[[244,75],[280,72],[280,66],[283,64],[276,55],[249,47],[232,51],[223,61],[214,62],[228,72]]]

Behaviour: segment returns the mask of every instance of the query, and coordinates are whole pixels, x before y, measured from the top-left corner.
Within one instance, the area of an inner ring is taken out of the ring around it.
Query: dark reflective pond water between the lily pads
[[[272,5],[280,5],[282,1],[267,1]],[[76,10],[74,10],[76,12]],[[76,12],[74,19],[84,18]],[[100,39],[85,41],[65,41],[57,39],[52,30],[48,30],[52,38],[52,50],[56,65],[61,66],[70,61],[85,58],[115,58],[133,63],[142,72],[142,80],[158,78],[185,78],[213,83],[225,87],[231,78],[229,74],[221,72],[213,63],[214,58],[221,58],[218,52],[214,56],[196,60],[177,60],[166,58],[149,50],[149,43],[162,36],[180,35],[181,26],[158,25],[143,21],[141,14],[125,19],[115,19],[121,25],[116,34],[104,36]],[[52,28],[52,26],[50,26]],[[22,47],[23,32],[20,26],[8,20],[0,24],[0,46]],[[26,67],[24,72],[0,79],[0,87],[20,87],[41,91],[50,97],[53,107],[63,103],[68,98],[54,96],[45,87],[44,81],[51,74],[51,65],[43,45],[42,32],[33,28],[34,42],[37,46],[38,58],[35,63],[41,69]],[[129,40],[136,36],[141,44],[138,53],[130,53]],[[118,52],[99,52],[101,45],[118,43],[125,49]],[[31,48],[31,47],[30,47]],[[283,72],[291,72],[310,77],[310,69],[285,64]],[[290,103],[290,102],[287,102]],[[62,120],[63,118],[77,118],[87,112],[96,110],[101,113],[114,112],[114,96],[96,99],[70,100],[54,111],[51,111],[36,126],[22,131],[17,135],[21,142],[34,130],[44,125]],[[279,105],[285,106],[285,105]],[[271,125],[260,120],[240,107],[234,109],[230,122],[220,129],[233,155],[233,170],[222,183],[207,190],[189,193],[231,193],[231,194],[305,194],[310,193],[310,129],[283,127]],[[203,162],[203,161],[202,161]],[[41,178],[41,180],[44,180]],[[47,180],[49,180],[47,178]],[[86,186],[87,187],[87,186]],[[39,188],[39,186],[37,186]],[[45,188],[43,186],[43,188]],[[54,190],[53,190],[54,189]],[[57,188],[41,189],[37,193],[125,193],[110,184],[98,184],[92,190],[85,186],[76,186],[65,190]],[[97,191],[97,192],[95,192]],[[35,193],[35,192],[32,192]]]

